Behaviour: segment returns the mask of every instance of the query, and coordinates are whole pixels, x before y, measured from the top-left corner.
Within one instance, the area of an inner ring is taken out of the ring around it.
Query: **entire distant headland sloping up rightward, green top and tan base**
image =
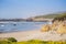
[[[66,12],[59,12],[59,13],[51,13],[51,14],[44,14],[44,15],[36,15],[36,16],[32,16],[32,18],[28,18],[26,21],[52,21],[53,19],[55,19],[56,16],[66,14]]]

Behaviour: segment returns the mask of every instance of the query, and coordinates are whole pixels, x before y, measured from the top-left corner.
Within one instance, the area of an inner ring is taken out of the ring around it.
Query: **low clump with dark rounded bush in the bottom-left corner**
[[[16,43],[14,37],[0,37],[0,44],[13,44]]]

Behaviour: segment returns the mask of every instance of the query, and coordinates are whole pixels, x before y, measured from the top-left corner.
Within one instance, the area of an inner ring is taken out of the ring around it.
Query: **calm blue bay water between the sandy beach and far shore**
[[[0,32],[40,30],[42,25],[50,22],[4,22],[0,23]]]

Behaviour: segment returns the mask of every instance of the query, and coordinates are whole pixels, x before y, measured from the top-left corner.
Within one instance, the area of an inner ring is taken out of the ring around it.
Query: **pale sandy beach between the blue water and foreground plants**
[[[0,37],[14,37],[19,42],[28,40],[61,41],[66,40],[66,34],[59,35],[55,32],[41,32],[40,30],[1,33]]]

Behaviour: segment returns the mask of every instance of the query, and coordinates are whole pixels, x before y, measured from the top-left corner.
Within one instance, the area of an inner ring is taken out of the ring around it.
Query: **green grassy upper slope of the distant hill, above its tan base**
[[[63,13],[52,13],[52,14],[44,14],[44,15],[37,15],[37,16],[33,16],[34,19],[40,19],[40,18],[43,18],[43,19],[54,19],[58,15],[62,15],[66,12],[63,12]]]

